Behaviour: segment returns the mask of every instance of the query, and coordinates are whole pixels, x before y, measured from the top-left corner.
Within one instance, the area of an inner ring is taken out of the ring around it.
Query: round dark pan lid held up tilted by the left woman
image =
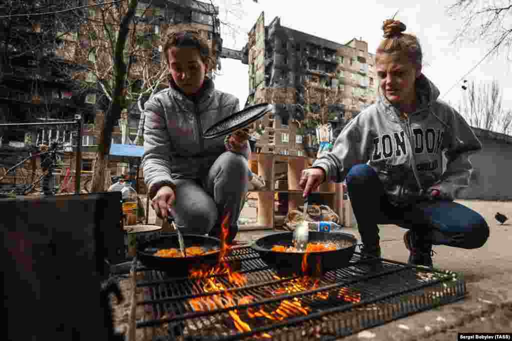
[[[206,129],[203,138],[215,139],[242,129],[252,122],[261,119],[268,111],[271,111],[272,108],[272,104],[261,103],[234,112]]]

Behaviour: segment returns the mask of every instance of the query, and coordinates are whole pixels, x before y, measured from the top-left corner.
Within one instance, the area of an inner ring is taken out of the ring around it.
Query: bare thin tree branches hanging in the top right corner
[[[492,43],[494,53],[500,48],[509,53],[512,46],[512,2],[510,0],[456,0],[447,13],[462,20],[454,41],[470,40]]]

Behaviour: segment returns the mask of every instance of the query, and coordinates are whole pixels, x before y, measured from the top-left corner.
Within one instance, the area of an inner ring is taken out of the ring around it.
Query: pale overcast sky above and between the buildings
[[[219,2],[229,4],[230,1]],[[398,10],[396,19],[407,25],[407,33],[415,34],[420,39],[423,60],[429,64],[424,67],[423,73],[438,86],[441,98],[456,106],[463,92],[459,83],[447,95],[443,95],[491,48],[481,42],[452,43],[460,21],[446,14],[446,6],[454,0],[420,0],[418,4],[410,0],[259,0],[257,4],[252,0],[242,1],[245,15],[237,24],[243,28],[243,32],[236,41],[223,35],[227,48],[241,49],[247,42],[247,32],[264,11],[265,25],[279,16],[282,26],[339,43],[347,43],[354,37],[362,38],[368,42],[369,52],[374,53],[382,39],[382,21]],[[223,19],[222,13],[220,17]],[[216,77],[216,87],[237,96],[243,106],[248,95],[247,65],[233,59],[223,58],[221,62],[222,70],[221,75]],[[503,105],[512,109],[510,62],[505,56],[489,56],[466,79],[477,82],[498,80],[503,89]]]

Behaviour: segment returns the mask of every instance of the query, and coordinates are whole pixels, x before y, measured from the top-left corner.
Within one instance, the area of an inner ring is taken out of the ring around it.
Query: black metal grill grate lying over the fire
[[[279,278],[249,247],[233,249],[228,260],[241,263],[238,272],[247,282],[231,284],[222,275],[210,279],[227,290],[233,306],[225,292],[204,290],[208,278],[172,278],[139,267],[144,276],[137,286],[145,294],[138,304],[150,319],[137,328],[163,327],[168,339],[184,340],[333,340],[459,300],[466,292],[465,282],[450,271],[391,260],[372,269],[358,253],[350,266],[327,272],[315,286],[304,285],[301,277]],[[295,290],[286,291],[292,284]],[[240,327],[243,323],[250,330]]]

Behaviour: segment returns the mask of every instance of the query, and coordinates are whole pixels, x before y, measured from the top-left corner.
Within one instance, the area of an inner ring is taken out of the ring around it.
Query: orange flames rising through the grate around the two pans
[[[226,280],[235,288],[241,287],[247,283],[247,278],[237,271],[232,271],[230,264],[226,261],[226,254],[232,246],[226,243],[229,229],[229,216],[229,213],[226,214],[221,224],[221,251],[219,254],[218,265],[209,270],[195,269],[190,271],[190,278],[196,279],[198,286],[201,287],[202,284],[201,288],[203,293],[212,293],[210,295],[204,295],[203,297],[192,298],[188,300],[188,303],[195,312],[238,307],[240,305],[247,305],[254,302],[254,297],[252,295],[245,295],[240,298],[233,297],[231,292],[228,290],[230,288],[227,288],[221,282],[218,276],[214,276],[225,275]],[[306,273],[308,266],[308,255],[310,252],[311,250],[307,249],[303,256],[303,274]],[[319,264],[319,262],[317,262],[317,264]],[[278,297],[282,295],[289,295],[316,289],[319,282],[319,276],[321,276],[321,269],[318,266],[313,277],[293,276],[286,281],[286,278],[274,275],[273,277],[275,280],[285,281],[282,282],[281,287],[271,291],[272,296]],[[329,293],[327,290],[319,291],[314,293],[313,297],[315,299],[329,300],[332,298],[332,292]],[[346,302],[356,303],[360,301],[360,294],[353,292],[349,288],[342,287],[337,291],[335,298],[336,300],[342,299]],[[290,300],[282,300],[277,308],[270,311],[264,308],[254,309],[251,307],[244,309],[242,312],[239,312],[239,310],[240,309],[229,310],[228,314],[231,317],[234,327],[240,332],[248,332],[252,330],[249,324],[246,322],[248,319],[252,321],[255,319],[263,319],[275,322],[283,321],[293,316],[308,315],[308,313],[311,312],[311,308],[305,305],[301,299],[297,297],[294,297]],[[260,333],[259,335],[254,335],[254,337],[271,338],[271,336],[267,333]]]

